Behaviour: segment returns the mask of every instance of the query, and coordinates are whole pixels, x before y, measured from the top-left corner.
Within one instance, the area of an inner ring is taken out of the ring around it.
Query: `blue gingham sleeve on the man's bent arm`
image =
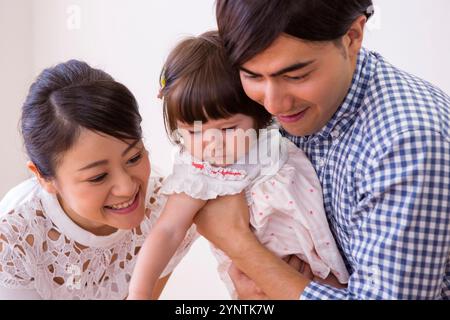
[[[409,131],[375,149],[352,212],[362,223],[348,287],[312,282],[301,299],[450,298],[450,142]]]

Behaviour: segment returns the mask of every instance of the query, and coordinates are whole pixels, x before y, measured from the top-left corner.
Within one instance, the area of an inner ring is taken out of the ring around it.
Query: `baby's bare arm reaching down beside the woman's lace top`
[[[152,292],[195,214],[206,201],[180,193],[169,196],[166,206],[141,248],[130,282],[128,299],[151,299]]]

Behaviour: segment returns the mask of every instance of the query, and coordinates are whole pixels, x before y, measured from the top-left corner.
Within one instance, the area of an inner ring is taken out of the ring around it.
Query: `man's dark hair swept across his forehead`
[[[217,0],[220,36],[234,66],[267,49],[281,33],[307,41],[337,41],[372,0]]]

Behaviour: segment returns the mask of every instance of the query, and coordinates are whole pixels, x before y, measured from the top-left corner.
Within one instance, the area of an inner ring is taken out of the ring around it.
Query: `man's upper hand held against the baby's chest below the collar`
[[[194,218],[198,232],[216,247],[228,253],[229,245],[241,236],[252,236],[245,196],[223,196],[208,203]]]

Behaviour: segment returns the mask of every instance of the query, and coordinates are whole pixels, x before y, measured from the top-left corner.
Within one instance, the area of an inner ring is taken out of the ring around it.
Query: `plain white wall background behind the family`
[[[374,0],[365,46],[450,93],[450,1]],[[170,48],[215,28],[214,0],[0,0],[0,197],[27,177],[17,124],[34,77],[70,58],[105,69],[135,94],[153,165],[170,170],[158,76]],[[199,240],[163,299],[227,299]]]

